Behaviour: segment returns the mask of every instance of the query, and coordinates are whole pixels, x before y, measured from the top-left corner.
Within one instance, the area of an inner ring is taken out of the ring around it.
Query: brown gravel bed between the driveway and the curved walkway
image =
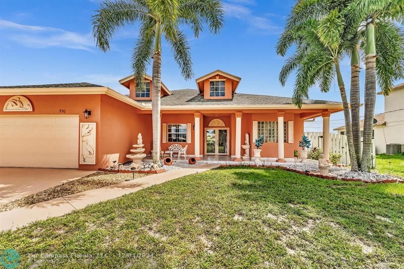
[[[134,174],[135,178],[141,178],[145,176],[147,176],[147,174]],[[35,194],[31,194],[24,198],[0,205],[0,212],[52,200],[83,191],[99,189],[105,186],[114,185],[132,179],[132,174],[96,172],[86,177],[82,177],[74,181],[69,181],[67,183],[63,183],[61,185],[37,192]]]

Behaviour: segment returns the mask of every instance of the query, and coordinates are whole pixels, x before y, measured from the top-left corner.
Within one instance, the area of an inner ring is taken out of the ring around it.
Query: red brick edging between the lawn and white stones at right
[[[316,178],[322,178],[322,179],[328,179],[328,180],[342,180],[342,181],[356,181],[356,182],[364,182],[364,183],[404,183],[403,180],[398,180],[398,179],[383,179],[383,180],[365,180],[365,179],[360,179],[360,178],[338,178],[335,176],[325,176],[325,175],[320,175],[318,173],[313,173],[313,172],[306,172],[306,171],[300,171],[297,169],[291,169],[285,166],[262,166],[262,165],[221,165],[220,167],[254,167],[254,168],[272,168],[272,169],[280,169],[280,170],[285,170],[289,172],[294,172],[300,175],[306,175],[310,177],[316,177]]]

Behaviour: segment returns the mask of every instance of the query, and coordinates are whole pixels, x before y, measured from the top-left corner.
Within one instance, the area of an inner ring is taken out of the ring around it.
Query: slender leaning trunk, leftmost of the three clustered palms
[[[357,165],[357,158],[356,158],[355,149],[354,149],[354,139],[352,138],[352,127],[351,127],[351,123],[350,123],[349,104],[348,104],[348,99],[346,98],[345,84],[342,79],[341,70],[339,69],[338,61],[335,62],[335,70],[337,72],[338,87],[339,87],[339,92],[341,94],[342,106],[343,106],[343,110],[344,110],[346,140],[348,142],[348,151],[349,151],[349,157],[350,157],[350,169],[352,171],[357,171],[358,165]]]

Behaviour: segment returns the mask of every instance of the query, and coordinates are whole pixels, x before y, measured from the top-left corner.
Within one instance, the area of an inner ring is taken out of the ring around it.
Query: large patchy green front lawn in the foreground
[[[404,184],[222,168],[2,233],[0,246],[22,268],[41,253],[40,267],[402,267]]]

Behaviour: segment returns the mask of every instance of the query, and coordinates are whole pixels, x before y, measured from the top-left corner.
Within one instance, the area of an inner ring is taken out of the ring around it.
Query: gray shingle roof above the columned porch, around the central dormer
[[[292,98],[279,97],[270,95],[256,95],[246,93],[234,93],[232,99],[204,99],[204,96],[199,95],[197,90],[182,89],[172,90],[173,94],[161,98],[161,105],[201,105],[201,104],[245,104],[245,105],[260,105],[260,104],[293,104]],[[139,101],[148,103],[151,100]],[[340,104],[340,102],[311,100],[305,99],[304,104]]]

